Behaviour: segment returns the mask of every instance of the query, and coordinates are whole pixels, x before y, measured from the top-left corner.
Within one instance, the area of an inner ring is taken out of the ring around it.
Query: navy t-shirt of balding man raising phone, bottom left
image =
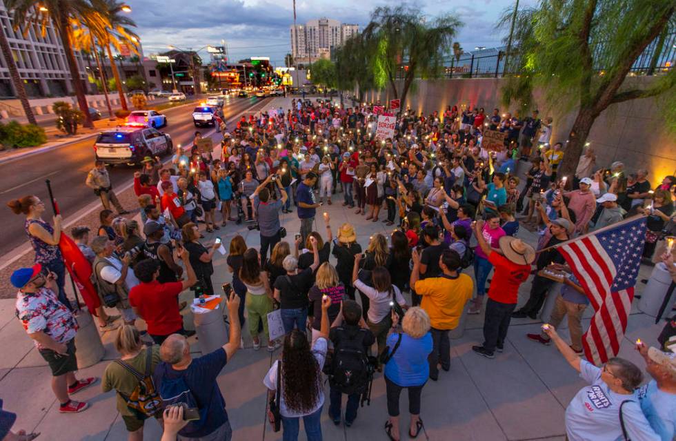
[[[226,366],[228,355],[223,348],[212,353],[193,358],[188,369],[177,371],[169,364],[162,363],[155,370],[155,384],[161,383],[161,378],[178,378],[183,375],[186,386],[195,397],[199,409],[206,409],[206,421],[199,424],[197,430],[191,430],[192,424],[179,431],[179,435],[186,438],[201,438],[209,435],[228,421],[226,400],[223,400],[216,378],[221,369]],[[161,372],[164,372],[162,375]],[[200,422],[201,423],[201,422]]]

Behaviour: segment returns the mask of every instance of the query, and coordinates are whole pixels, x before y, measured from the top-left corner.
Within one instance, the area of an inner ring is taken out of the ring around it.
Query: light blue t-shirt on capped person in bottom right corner
[[[637,395],[650,427],[657,432],[662,441],[673,440],[676,435],[676,395],[657,389],[655,380],[650,380],[648,384],[642,386]]]

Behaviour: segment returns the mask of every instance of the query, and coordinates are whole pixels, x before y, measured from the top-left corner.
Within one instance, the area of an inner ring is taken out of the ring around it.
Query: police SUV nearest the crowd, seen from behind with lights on
[[[146,156],[168,155],[174,144],[168,133],[152,127],[120,126],[103,130],[94,144],[95,159],[106,164],[141,164]]]

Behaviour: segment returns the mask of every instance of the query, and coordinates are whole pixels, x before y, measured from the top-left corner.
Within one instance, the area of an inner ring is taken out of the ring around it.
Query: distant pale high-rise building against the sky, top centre
[[[329,58],[332,49],[359,32],[359,25],[346,24],[326,17],[290,27],[291,54],[297,63],[311,63]]]

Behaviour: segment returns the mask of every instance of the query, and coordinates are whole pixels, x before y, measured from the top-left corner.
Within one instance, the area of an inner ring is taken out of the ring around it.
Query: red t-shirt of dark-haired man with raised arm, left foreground
[[[140,283],[129,290],[129,304],[136,308],[151,335],[169,335],[183,327],[177,297],[183,282]]]

